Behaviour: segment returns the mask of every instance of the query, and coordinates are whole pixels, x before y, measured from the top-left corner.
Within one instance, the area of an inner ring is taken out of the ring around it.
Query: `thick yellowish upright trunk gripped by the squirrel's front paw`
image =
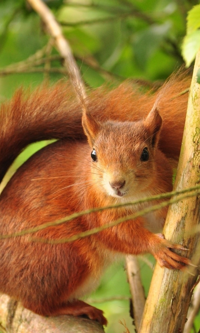
[[[188,110],[179,160],[175,189],[194,186],[200,179],[200,85],[196,73],[200,68],[200,50],[196,56],[190,87]],[[178,121],[178,120],[174,120]],[[199,264],[199,233],[195,232],[200,217],[199,196],[174,203],[169,208],[164,228],[165,237],[172,242],[181,242],[190,249],[189,256]],[[156,264],[149,295],[146,301],[139,333],[183,332],[192,292],[198,276],[185,272],[163,269]]]

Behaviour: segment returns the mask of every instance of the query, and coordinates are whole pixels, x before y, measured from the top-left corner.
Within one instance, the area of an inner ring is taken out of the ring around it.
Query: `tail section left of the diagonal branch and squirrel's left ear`
[[[69,83],[18,89],[0,109],[0,180],[30,143],[48,139],[83,138],[81,108]]]

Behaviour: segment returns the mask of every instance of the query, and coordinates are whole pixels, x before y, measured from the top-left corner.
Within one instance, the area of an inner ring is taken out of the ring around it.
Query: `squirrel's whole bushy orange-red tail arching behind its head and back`
[[[159,93],[163,118],[159,147],[171,158],[180,153],[190,78],[175,78]],[[157,93],[141,93],[125,82],[89,93],[88,110],[100,120],[135,121],[150,112]],[[81,107],[70,83],[42,85],[34,92],[19,89],[0,109],[0,181],[19,153],[30,143],[48,139],[85,140]]]

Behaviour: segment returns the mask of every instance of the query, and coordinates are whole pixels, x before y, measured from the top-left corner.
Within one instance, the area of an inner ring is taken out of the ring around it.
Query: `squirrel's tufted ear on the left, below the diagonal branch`
[[[93,148],[97,133],[100,131],[100,123],[95,120],[95,118],[89,113],[87,108],[83,109],[82,125],[88,142]]]

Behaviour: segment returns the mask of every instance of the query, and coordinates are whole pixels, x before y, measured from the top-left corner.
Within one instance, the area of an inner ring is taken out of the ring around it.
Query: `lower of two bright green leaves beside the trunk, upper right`
[[[182,56],[185,60],[186,66],[189,67],[195,59],[197,51],[200,47],[200,30],[186,35],[182,44]]]

